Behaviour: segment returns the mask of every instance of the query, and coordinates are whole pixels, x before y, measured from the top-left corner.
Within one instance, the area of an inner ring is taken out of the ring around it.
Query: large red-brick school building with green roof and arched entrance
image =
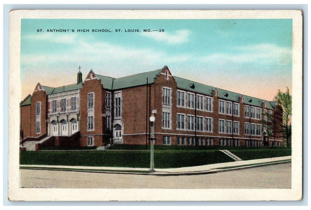
[[[23,142],[54,146],[282,146],[282,109],[266,101],[173,76],[162,69],[112,78],[89,72],[77,84],[38,83],[20,103]]]

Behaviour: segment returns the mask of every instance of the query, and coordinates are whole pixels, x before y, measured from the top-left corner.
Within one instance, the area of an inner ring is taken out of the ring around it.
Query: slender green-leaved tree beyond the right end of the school
[[[278,90],[277,95],[274,97],[274,100],[277,102],[277,105],[281,107],[280,112],[282,113],[282,133],[286,136],[287,147],[289,146],[289,139],[291,137],[291,116],[292,116],[292,96],[288,87],[286,87],[286,92],[281,92]]]

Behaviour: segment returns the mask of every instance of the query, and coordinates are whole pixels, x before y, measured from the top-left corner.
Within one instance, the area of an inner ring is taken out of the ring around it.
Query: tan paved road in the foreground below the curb
[[[170,188],[258,189],[290,188],[291,163],[216,174],[150,176],[21,169],[25,188]]]

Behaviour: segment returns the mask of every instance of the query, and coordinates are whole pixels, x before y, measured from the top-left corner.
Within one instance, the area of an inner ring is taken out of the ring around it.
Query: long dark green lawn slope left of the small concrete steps
[[[231,162],[218,150],[155,150],[155,168],[179,168]],[[22,151],[21,165],[149,168],[150,151]]]

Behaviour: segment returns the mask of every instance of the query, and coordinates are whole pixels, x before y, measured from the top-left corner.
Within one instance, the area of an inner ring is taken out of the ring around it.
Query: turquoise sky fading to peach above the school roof
[[[125,32],[130,29],[140,32]],[[175,76],[272,100],[278,89],[285,91],[288,86],[291,91],[292,20],[21,21],[22,98],[32,93],[38,82],[53,87],[75,83],[79,66],[85,78],[91,69],[122,77],[164,65]]]

